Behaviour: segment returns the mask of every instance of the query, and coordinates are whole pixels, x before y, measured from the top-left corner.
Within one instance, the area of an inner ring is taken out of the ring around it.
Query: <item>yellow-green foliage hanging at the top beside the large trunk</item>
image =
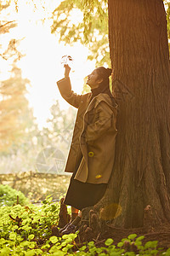
[[[163,1],[167,9],[167,34],[170,38],[170,2]],[[79,20],[74,21],[74,16]],[[98,66],[111,66],[108,41],[107,0],[62,1],[54,9],[51,28],[58,33],[65,44],[80,42],[90,49],[89,60],[96,60]]]

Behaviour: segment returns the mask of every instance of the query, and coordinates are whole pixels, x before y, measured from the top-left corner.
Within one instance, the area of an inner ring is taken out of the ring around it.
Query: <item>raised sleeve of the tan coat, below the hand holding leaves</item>
[[[69,78],[61,79],[57,82],[57,85],[59,92],[65,101],[71,104],[73,107],[79,108],[83,95],[77,95],[73,92],[73,90],[71,90],[71,80]]]

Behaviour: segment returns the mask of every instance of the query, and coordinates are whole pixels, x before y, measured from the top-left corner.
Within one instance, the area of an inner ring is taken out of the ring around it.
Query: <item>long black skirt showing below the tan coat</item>
[[[72,174],[69,188],[65,196],[65,205],[82,210],[85,207],[93,207],[105,195],[106,183],[82,183],[74,179],[76,172]]]

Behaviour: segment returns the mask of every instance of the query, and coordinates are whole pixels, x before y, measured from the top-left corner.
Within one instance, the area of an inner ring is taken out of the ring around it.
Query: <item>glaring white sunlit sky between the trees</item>
[[[82,92],[84,77],[95,67],[95,61],[87,61],[88,49],[85,46],[82,44],[65,46],[59,43],[57,36],[51,34],[52,21],[49,19],[49,14],[59,2],[50,1],[47,4],[47,1],[41,3],[37,1],[37,9],[35,9],[31,1],[19,0],[18,13],[13,12],[14,17],[10,16],[11,19],[18,20],[18,27],[13,29],[13,36],[22,38],[19,49],[26,54],[21,58],[18,66],[22,70],[23,78],[31,81],[31,86],[27,88],[29,91],[27,98],[34,109],[39,128],[46,125],[46,119],[50,113],[49,108],[56,100],[59,100],[61,108],[70,107],[60,96],[56,85],[56,81],[64,77],[64,68],[60,63],[61,57],[71,55],[74,60],[75,72],[71,72],[71,83],[72,89],[77,93]],[[11,6],[11,9],[14,8],[15,5]],[[43,17],[45,19],[42,22]],[[82,19],[82,14],[78,11],[76,15],[76,10],[74,10],[73,17],[78,22],[78,17]]]

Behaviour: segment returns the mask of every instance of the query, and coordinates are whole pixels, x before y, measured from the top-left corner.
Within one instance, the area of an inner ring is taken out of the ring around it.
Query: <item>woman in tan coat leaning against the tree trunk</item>
[[[76,230],[82,208],[94,206],[105,194],[114,163],[117,132],[117,105],[109,89],[111,68],[98,67],[88,75],[91,92],[85,95],[71,90],[70,70],[65,65],[65,79],[57,82],[65,101],[78,108],[65,166],[65,172],[73,172],[64,201],[71,206],[71,222],[59,230],[63,235]]]

